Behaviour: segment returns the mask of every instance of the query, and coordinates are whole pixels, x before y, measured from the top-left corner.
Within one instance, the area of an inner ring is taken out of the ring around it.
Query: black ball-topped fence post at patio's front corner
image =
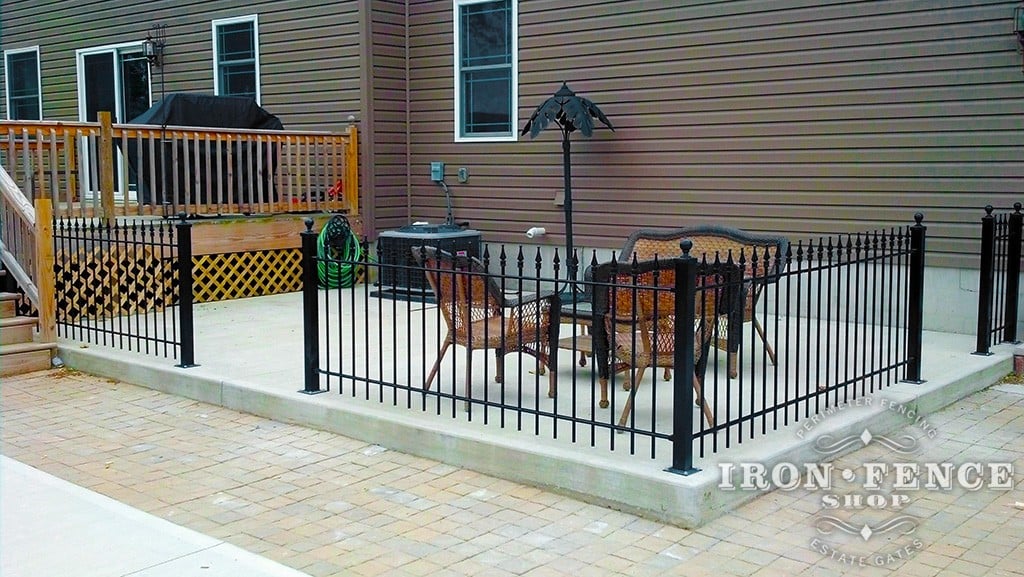
[[[675,314],[676,346],[673,351],[672,375],[672,466],[666,470],[678,475],[692,475],[693,466],[693,324],[686,319],[694,316],[697,260],[690,256],[693,242],[684,239],[679,243],[683,250],[676,259]]]

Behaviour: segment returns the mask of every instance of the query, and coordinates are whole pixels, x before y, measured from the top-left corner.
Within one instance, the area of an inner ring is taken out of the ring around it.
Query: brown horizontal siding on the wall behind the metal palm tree
[[[928,263],[976,267],[982,207],[1024,197],[1015,5],[519,2],[518,126],[563,80],[614,124],[572,136],[581,245],[708,222],[797,241],[921,211]],[[451,183],[457,220],[493,242],[542,225],[557,244],[557,130],[455,142],[452,2],[410,11],[409,217],[443,218],[439,160],[470,173]]]

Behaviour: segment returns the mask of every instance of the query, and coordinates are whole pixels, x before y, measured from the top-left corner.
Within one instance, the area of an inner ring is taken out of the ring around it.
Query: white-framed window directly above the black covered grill
[[[213,91],[259,101],[259,22],[255,15],[213,22]]]

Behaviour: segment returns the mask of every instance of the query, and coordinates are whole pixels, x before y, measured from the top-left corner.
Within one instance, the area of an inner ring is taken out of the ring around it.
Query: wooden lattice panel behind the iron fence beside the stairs
[[[147,247],[59,251],[57,321],[160,311],[176,303],[177,271]]]

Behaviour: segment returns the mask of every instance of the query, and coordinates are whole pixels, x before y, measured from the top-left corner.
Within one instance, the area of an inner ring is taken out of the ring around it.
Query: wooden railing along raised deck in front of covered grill
[[[0,121],[0,166],[58,216],[358,214],[357,131]]]

